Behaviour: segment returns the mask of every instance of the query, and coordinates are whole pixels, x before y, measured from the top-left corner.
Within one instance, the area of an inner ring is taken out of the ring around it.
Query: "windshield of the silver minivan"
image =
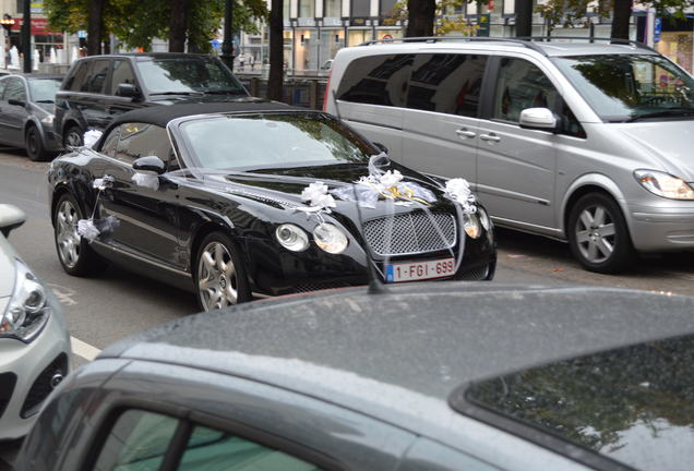
[[[694,78],[661,56],[553,58],[605,121],[694,119]]]

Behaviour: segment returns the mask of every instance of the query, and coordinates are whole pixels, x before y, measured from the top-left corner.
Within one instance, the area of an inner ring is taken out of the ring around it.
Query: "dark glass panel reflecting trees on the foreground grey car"
[[[470,386],[466,400],[643,470],[694,462],[694,336],[550,363]]]

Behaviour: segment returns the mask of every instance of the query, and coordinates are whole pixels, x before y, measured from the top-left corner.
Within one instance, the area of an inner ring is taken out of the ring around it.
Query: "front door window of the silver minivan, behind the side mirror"
[[[559,93],[542,71],[524,59],[503,58],[492,118],[517,123],[526,108],[557,108]]]

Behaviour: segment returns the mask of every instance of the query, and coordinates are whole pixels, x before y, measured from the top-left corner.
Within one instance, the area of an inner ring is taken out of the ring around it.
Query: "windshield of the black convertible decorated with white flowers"
[[[363,162],[366,141],[323,113],[224,116],[184,122],[195,164],[210,169],[262,170]]]

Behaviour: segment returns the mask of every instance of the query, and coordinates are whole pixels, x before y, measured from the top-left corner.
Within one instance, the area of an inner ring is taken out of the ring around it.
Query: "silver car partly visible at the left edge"
[[[24,219],[0,204],[0,442],[26,435],[69,371],[60,304],[5,239]]]

